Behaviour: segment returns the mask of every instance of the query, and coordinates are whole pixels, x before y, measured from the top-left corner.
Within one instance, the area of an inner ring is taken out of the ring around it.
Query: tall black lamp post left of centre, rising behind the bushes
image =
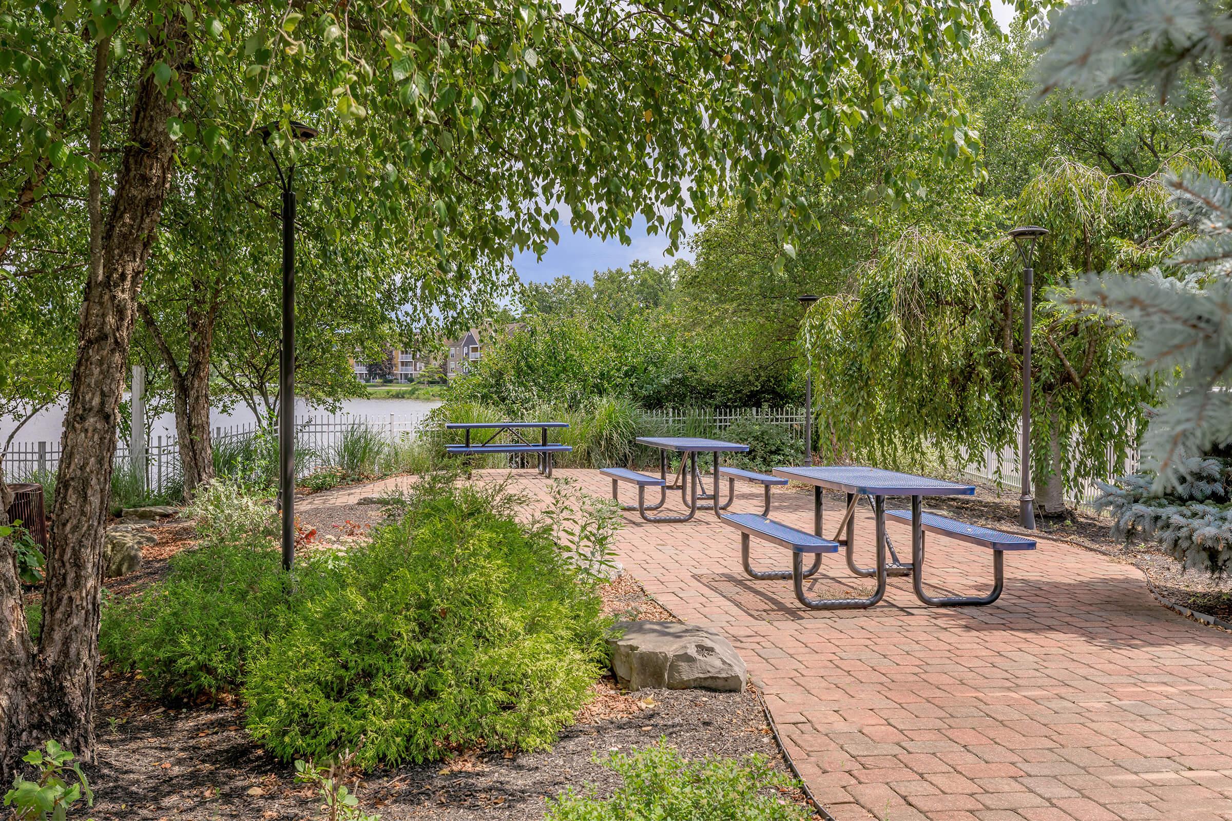
[[[317,129],[291,121],[291,138],[307,142]],[[296,164],[286,174],[270,145],[270,135],[281,122],[261,128],[261,140],[270,151],[282,190],[282,346],[278,352],[278,502],[282,507],[282,569],[290,571],[296,559]]]

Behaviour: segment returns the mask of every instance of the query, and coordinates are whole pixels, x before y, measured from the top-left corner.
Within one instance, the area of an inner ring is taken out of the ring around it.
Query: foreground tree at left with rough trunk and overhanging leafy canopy
[[[995,25],[983,0],[572,12],[549,0],[9,0],[0,11],[0,249],[62,196],[85,201],[90,249],[37,646],[12,563],[0,561],[6,772],[44,737],[94,755],[96,569],[121,374],[181,169],[205,177],[266,162],[259,127],[270,121],[272,148],[299,161],[290,119],[307,117],[322,135],[317,167],[303,170],[336,190],[338,207],[322,206],[334,241],[371,225],[434,249],[442,272],[542,252],[559,203],[572,229],[621,239],[641,213],[676,240],[727,197],[807,223],[797,137],[837,176],[859,134],[926,110],[944,91],[945,54]],[[955,108],[942,130],[940,156],[970,162],[965,114]],[[435,304],[455,286],[430,277],[420,293]]]

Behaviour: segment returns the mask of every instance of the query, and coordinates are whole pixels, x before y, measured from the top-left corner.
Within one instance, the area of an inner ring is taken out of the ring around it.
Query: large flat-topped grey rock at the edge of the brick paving
[[[744,660],[713,630],[679,622],[617,622],[607,645],[621,686],[739,692]]]

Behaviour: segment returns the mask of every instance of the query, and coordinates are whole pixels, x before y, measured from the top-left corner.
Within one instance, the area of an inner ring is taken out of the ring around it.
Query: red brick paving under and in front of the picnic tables
[[[610,492],[598,471],[558,475]],[[515,485],[546,499],[535,471]],[[738,486],[733,510],[759,511],[760,495]],[[832,526],[839,505],[828,495]],[[808,529],[811,506],[776,489],[771,516]],[[620,561],[680,618],[731,639],[839,821],[1232,820],[1232,636],[1159,607],[1132,566],[1041,540],[1007,555],[988,607],[924,607],[910,580],[891,579],[872,609],[812,612],[790,581],[744,577],[739,538],[712,513],[626,521]],[[887,529],[909,555],[908,528]],[[867,508],[856,539],[871,564]],[[928,547],[936,588],[987,588],[986,550],[936,535]],[[787,559],[754,549],[761,566]],[[827,572],[813,591],[867,585],[840,556]]]

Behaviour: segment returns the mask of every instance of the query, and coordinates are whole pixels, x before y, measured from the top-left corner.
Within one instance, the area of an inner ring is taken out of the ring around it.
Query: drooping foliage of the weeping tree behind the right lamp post
[[[1167,225],[1158,186],[1119,186],[1073,160],[1047,165],[1010,213],[1050,230],[1035,262],[1041,288],[1092,267],[1142,270],[1163,252],[1151,245]],[[919,464],[934,449],[961,464],[966,454],[1013,446],[1020,265],[1003,236],[981,244],[912,230],[869,263],[854,294],[818,303],[808,336],[823,452]],[[1032,327],[1035,491],[1045,512],[1062,513],[1066,490],[1105,474],[1108,448],[1125,458],[1152,390],[1121,372],[1131,341],[1124,325],[1046,303]]]

